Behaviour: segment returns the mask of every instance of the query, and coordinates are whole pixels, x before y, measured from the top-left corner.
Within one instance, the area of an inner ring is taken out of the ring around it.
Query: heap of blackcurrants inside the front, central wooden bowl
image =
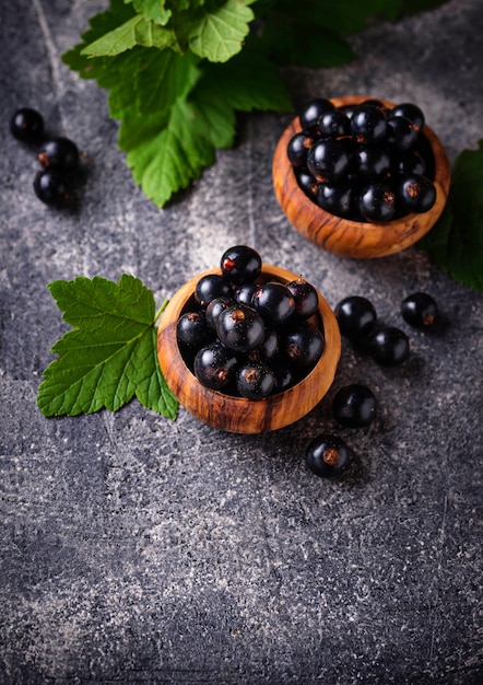
[[[256,249],[235,245],[202,276],[177,322],[188,368],[204,386],[263,399],[298,383],[325,348],[317,290],[302,277],[264,280]]]

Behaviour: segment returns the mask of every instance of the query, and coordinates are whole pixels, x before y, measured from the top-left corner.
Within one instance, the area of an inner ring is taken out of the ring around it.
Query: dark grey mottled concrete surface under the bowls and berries
[[[243,118],[239,143],[166,210],[131,179],[106,94],[60,61],[106,3],[1,2],[0,682],[451,684],[482,682],[483,298],[412,247],[376,262],[317,249],[282,214],[271,155],[291,115]],[[367,93],[417,102],[451,160],[482,136],[481,0],[451,0],[353,40],[358,61],[286,72],[295,101]],[[81,211],[36,200],[17,106],[91,158]],[[46,285],[132,272],[158,303],[221,252],[248,243],[335,303],[375,302],[411,334],[402,367],[344,345],[328,397],[275,433],[176,422],[137,402],[111,415],[45,419],[50,346],[66,330]],[[410,330],[401,299],[439,303],[436,335]],[[338,428],[334,391],[364,382],[368,429]],[[357,464],[307,473],[327,430]]]

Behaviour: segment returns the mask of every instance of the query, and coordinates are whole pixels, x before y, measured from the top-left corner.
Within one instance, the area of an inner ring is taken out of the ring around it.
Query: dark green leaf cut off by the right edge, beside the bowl
[[[483,291],[483,139],[456,159],[445,211],[417,246],[456,281]]]

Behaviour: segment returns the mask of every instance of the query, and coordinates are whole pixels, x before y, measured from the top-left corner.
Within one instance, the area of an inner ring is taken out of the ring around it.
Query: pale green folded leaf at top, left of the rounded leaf
[[[117,28],[104,34],[101,38],[90,43],[81,50],[81,55],[87,55],[87,57],[114,57],[125,50],[130,50],[134,45],[156,47],[161,50],[167,47],[180,50],[173,30],[160,26],[144,16],[137,15]]]

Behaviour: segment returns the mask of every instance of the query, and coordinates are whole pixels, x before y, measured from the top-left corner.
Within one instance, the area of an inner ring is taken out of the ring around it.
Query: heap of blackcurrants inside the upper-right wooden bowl
[[[302,190],[325,211],[374,223],[434,206],[435,162],[417,105],[367,100],[337,108],[318,97],[298,118],[287,156]]]

